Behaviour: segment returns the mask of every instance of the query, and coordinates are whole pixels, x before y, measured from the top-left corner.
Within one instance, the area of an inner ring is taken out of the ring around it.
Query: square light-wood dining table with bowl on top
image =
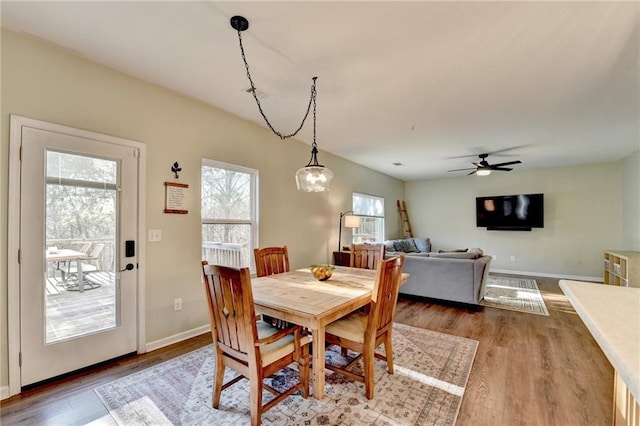
[[[316,280],[308,269],[253,278],[256,311],[301,325],[313,336],[313,395],[324,396],[327,324],[371,301],[376,271],[336,266],[330,279]],[[409,274],[402,274],[401,285]]]

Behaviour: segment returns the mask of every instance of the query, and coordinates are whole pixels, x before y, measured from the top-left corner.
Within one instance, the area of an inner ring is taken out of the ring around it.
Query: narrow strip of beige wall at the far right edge
[[[640,251],[640,151],[623,161],[622,167],[622,246]]]

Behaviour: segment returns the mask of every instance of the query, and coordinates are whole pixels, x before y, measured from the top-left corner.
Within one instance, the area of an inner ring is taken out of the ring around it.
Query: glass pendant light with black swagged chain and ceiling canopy
[[[307,105],[307,111],[302,118],[302,122],[300,126],[290,134],[282,134],[277,131],[273,125],[269,122],[266,114],[262,110],[262,105],[260,105],[260,99],[258,99],[258,95],[256,93],[256,87],[253,83],[253,79],[251,78],[251,73],[249,72],[249,63],[247,62],[247,58],[244,53],[244,46],[242,44],[242,32],[246,31],[249,28],[249,21],[243,16],[234,16],[231,18],[231,27],[238,32],[238,41],[240,44],[240,53],[242,54],[242,60],[244,62],[244,66],[247,70],[247,78],[249,79],[249,84],[251,88],[249,91],[253,95],[253,98],[256,101],[256,105],[258,106],[258,111],[260,115],[264,119],[265,123],[271,129],[271,131],[278,136],[281,140],[285,140],[291,138],[298,134],[300,129],[304,126],[304,123],[309,116],[309,111],[311,110],[311,105],[313,104],[313,143],[311,144],[311,159],[309,163],[300,168],[296,172],[296,185],[298,187],[298,191],[303,192],[324,192],[328,191],[331,188],[331,181],[333,179],[333,172],[318,163],[318,144],[316,142],[316,80],[318,77],[313,77],[313,83],[311,85],[311,96],[309,98],[309,104]]]

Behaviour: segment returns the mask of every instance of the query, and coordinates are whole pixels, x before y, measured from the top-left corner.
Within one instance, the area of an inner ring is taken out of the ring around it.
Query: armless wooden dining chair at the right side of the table
[[[358,352],[358,356],[344,367],[336,367],[328,363],[326,367],[346,377],[364,382],[368,399],[373,399],[374,358],[386,361],[387,371],[393,374],[393,317],[398,301],[403,265],[404,255],[381,260],[376,270],[368,312],[352,312],[326,327],[327,344]],[[383,343],[385,355],[376,353],[375,349]],[[360,358],[363,360],[363,375],[349,370]]]

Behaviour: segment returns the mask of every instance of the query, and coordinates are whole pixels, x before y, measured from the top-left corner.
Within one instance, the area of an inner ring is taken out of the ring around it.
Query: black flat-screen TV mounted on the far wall
[[[476,226],[489,231],[544,228],[544,194],[477,197]]]

